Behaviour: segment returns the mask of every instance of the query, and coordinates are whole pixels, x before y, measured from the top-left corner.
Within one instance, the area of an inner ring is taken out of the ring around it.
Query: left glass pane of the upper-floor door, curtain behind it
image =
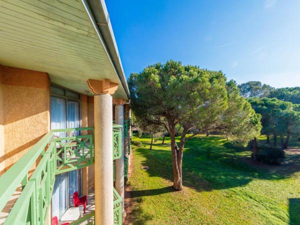
[[[51,97],[51,129],[66,128],[65,99]],[[56,132],[54,135],[64,137],[65,132]]]

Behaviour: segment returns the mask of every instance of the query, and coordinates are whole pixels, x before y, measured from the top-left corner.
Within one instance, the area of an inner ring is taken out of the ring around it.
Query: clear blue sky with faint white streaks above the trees
[[[300,0],[106,0],[126,76],[180,60],[300,86]]]

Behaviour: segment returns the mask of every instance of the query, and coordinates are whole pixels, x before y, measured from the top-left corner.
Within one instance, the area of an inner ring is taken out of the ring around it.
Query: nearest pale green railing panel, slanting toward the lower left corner
[[[54,143],[36,166],[6,217],[4,224],[46,224],[55,179]]]

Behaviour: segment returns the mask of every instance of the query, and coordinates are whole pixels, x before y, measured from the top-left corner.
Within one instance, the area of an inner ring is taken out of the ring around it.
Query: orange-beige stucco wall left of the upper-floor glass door
[[[0,76],[0,123],[4,133],[2,152],[0,145],[0,163],[4,163],[2,174],[48,132],[50,80],[45,72],[2,65]]]

